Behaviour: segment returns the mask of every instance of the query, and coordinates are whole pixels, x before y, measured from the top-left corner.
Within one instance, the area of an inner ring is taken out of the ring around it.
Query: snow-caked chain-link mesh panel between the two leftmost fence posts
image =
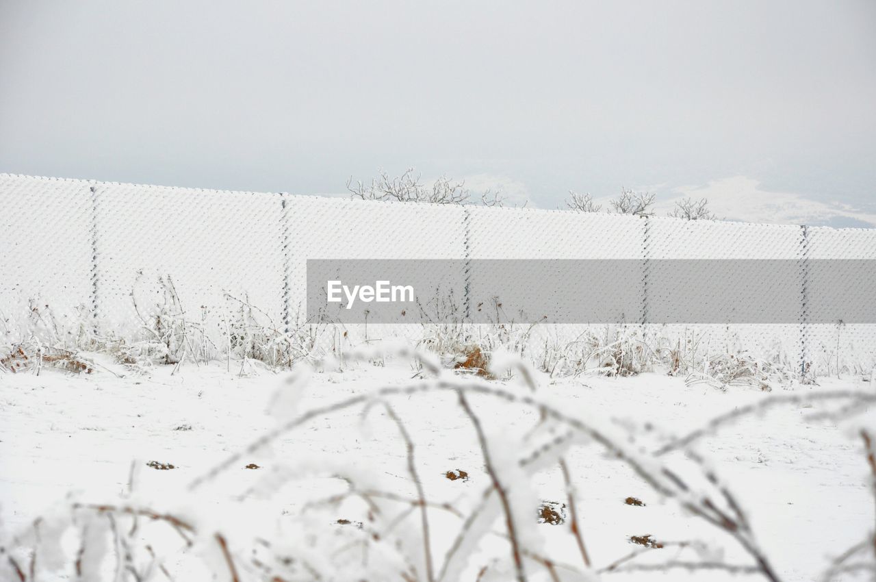
[[[130,334],[171,291],[205,319],[244,302],[279,321],[279,195],[98,183],[95,208],[103,330]]]

